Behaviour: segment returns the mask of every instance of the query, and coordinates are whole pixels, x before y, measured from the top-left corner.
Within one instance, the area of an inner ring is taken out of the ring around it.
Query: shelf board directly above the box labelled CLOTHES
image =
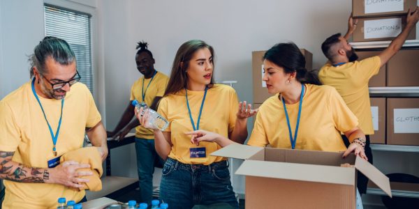
[[[419,86],[369,87],[371,97],[419,97]]]

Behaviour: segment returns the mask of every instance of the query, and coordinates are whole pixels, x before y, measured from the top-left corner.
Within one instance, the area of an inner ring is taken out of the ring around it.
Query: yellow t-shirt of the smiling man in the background
[[[140,77],[137,81],[134,82],[133,86],[131,87],[131,97],[129,100],[138,100],[138,102],[142,101],[142,81],[144,77]],[[162,97],[164,95],[164,91],[166,91],[166,86],[168,86],[169,78],[161,72],[157,72],[154,75],[154,79],[150,84],[152,78],[144,80],[144,92],[145,92],[145,104],[148,106],[152,105],[152,102],[155,97]],[[147,86],[149,85],[149,88]],[[146,91],[147,88],[147,91]],[[152,130],[148,130],[147,128],[138,125],[135,127],[135,137],[141,139],[154,139],[154,134]]]

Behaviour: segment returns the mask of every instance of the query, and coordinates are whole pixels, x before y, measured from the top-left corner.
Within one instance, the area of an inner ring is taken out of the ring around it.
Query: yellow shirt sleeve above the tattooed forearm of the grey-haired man
[[[20,132],[12,109],[6,102],[0,101],[0,150],[14,152],[20,144]]]

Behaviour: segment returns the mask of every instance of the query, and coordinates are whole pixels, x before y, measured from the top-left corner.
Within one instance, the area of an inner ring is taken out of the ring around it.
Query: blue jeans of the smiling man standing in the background
[[[155,163],[163,164],[154,148],[154,139],[135,138],[137,153],[138,181],[140,185],[140,203],[151,205],[153,198],[153,173]]]

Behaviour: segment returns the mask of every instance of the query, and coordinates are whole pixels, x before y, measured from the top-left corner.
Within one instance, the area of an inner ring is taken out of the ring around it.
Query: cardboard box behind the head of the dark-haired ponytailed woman
[[[313,66],[313,54],[306,49],[300,49],[301,53],[306,59],[306,68],[311,70]],[[253,66],[253,103],[263,103],[267,98],[272,95],[267,93],[265,82],[263,78],[263,55],[266,51],[252,52],[252,66]]]

